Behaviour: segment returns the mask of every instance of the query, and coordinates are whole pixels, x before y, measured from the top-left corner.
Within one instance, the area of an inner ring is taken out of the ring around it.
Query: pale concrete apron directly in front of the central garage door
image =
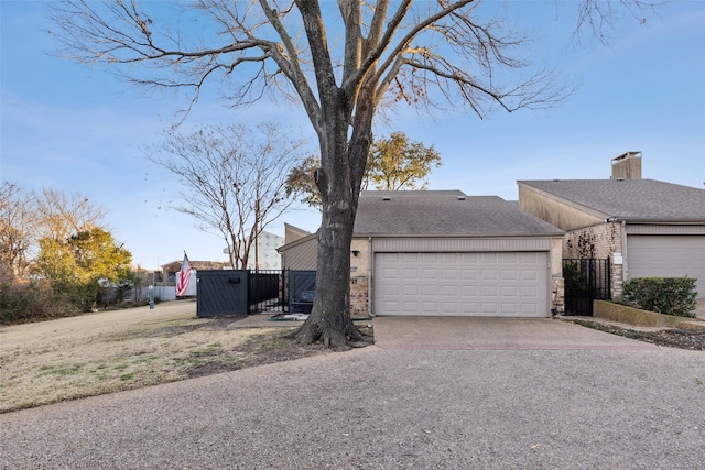
[[[376,317],[391,350],[652,350],[657,346],[552,318]]]

